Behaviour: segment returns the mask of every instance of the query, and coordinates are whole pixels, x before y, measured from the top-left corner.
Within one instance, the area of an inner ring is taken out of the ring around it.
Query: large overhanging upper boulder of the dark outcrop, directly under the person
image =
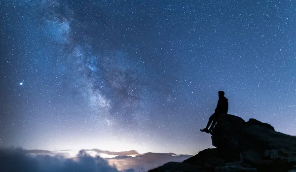
[[[213,129],[212,143],[217,148],[287,149],[296,151],[296,137],[274,131],[274,128],[255,119],[227,115],[220,118]]]

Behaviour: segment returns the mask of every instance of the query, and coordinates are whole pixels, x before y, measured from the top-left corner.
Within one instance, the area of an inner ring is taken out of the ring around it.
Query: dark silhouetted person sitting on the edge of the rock
[[[228,99],[226,99],[224,97],[224,92],[223,91],[219,91],[218,95],[219,95],[219,100],[218,100],[218,104],[217,107],[215,109],[215,113],[213,115],[211,115],[211,117],[209,118],[209,122],[207,124],[207,127],[200,130],[202,132],[206,132],[206,133],[211,133],[212,129],[214,128],[219,116],[221,113],[225,113],[227,114],[228,112]],[[212,123],[212,125],[211,125]],[[211,128],[208,129],[211,125]]]

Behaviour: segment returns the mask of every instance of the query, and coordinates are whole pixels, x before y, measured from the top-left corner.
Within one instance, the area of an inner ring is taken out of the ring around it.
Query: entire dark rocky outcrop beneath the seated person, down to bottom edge
[[[256,119],[222,115],[212,133],[216,148],[148,172],[296,172],[296,137]]]

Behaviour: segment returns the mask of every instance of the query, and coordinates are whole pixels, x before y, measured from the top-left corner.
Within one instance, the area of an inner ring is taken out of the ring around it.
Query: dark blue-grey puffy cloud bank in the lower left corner
[[[37,151],[38,153],[41,153]],[[35,154],[21,148],[0,149],[1,172],[119,172],[99,157],[81,150],[75,158]],[[34,151],[34,153],[36,153]],[[43,152],[44,153],[44,152]],[[48,152],[47,152],[48,153]],[[126,172],[133,172],[129,169]]]

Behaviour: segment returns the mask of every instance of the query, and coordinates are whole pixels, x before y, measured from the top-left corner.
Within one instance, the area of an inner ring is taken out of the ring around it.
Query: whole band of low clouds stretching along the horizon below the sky
[[[174,153],[139,154],[135,150],[112,152],[100,149],[80,150],[77,155],[69,156],[67,152],[71,150],[61,151],[0,149],[0,172],[142,172],[171,161],[183,162],[191,157]],[[98,156],[100,153],[117,156],[104,159]]]

